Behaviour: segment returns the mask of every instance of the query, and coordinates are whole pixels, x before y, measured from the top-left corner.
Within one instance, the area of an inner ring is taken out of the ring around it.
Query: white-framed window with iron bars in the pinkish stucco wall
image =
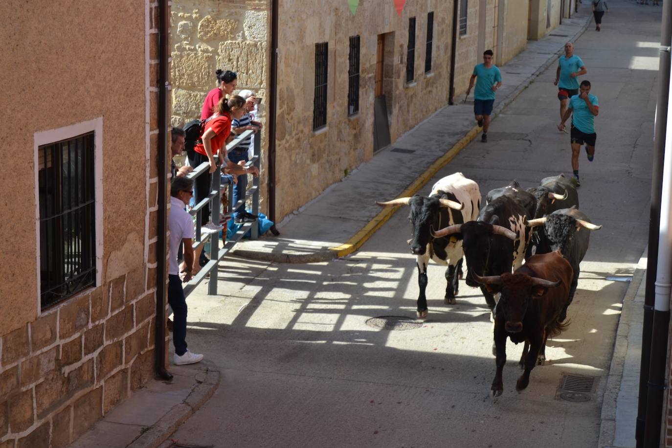
[[[38,148],[42,310],[95,286],[93,136]]]

